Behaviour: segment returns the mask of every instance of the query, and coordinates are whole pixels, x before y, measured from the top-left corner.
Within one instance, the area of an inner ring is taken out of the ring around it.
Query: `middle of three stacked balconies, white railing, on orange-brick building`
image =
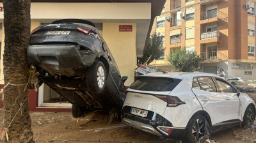
[[[219,41],[220,32],[212,31],[208,33],[201,33],[201,43],[213,43]]]

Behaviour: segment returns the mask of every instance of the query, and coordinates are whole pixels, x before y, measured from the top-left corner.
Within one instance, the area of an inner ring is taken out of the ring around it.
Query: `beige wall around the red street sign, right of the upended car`
[[[119,25],[132,25],[132,32],[119,32]],[[136,24],[103,23],[103,38],[115,58],[121,76],[128,76],[125,86],[130,86],[136,68]]]

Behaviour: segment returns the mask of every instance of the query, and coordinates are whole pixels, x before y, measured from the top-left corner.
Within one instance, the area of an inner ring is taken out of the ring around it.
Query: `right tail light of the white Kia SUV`
[[[186,104],[185,102],[182,102],[177,96],[156,95],[156,97],[164,100],[164,102],[167,102],[167,107],[177,107],[181,104]]]

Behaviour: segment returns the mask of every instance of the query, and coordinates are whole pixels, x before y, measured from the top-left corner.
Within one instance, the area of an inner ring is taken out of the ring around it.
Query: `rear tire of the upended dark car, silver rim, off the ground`
[[[101,61],[95,61],[86,71],[86,84],[92,93],[102,93],[106,85],[106,69]]]

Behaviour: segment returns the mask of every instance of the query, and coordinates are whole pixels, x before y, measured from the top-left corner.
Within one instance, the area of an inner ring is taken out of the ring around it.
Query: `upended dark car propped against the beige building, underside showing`
[[[127,77],[121,78],[92,22],[64,19],[36,27],[27,53],[39,80],[72,103],[74,117],[102,107],[122,108]]]

